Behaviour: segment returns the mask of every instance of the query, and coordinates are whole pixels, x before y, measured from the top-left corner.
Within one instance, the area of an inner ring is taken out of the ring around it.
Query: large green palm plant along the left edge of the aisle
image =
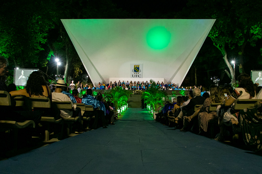
[[[117,86],[112,90],[106,90],[104,93],[104,99],[114,103],[115,108],[120,108],[126,104],[131,94],[132,91],[124,90]]]

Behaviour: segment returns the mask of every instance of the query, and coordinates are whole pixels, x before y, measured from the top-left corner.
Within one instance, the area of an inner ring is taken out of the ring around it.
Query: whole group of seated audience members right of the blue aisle
[[[218,141],[232,141],[238,138],[251,150],[262,151],[262,108],[258,105],[254,108],[235,110],[233,107],[238,99],[262,99],[262,91],[259,91],[247,74],[238,76],[238,84],[238,88],[234,90],[221,89],[222,93],[218,86],[211,85],[210,97],[206,99],[200,95],[198,89],[193,89],[193,94],[189,95],[189,102],[177,97],[175,104],[166,104],[163,107],[156,120],[165,125],[175,126],[181,132],[192,131]],[[212,103],[218,104],[217,110],[209,109]],[[202,106],[194,111],[195,105]],[[171,109],[173,110],[170,111]]]

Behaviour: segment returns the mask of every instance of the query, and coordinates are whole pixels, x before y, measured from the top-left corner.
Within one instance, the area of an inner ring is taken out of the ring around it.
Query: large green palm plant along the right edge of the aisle
[[[145,93],[143,93],[142,98],[146,101],[147,104],[152,105],[154,111],[157,112],[157,108],[159,108],[163,103],[163,98],[166,97],[166,93],[160,90],[160,87],[156,85],[156,82],[152,79],[151,88],[148,88]]]

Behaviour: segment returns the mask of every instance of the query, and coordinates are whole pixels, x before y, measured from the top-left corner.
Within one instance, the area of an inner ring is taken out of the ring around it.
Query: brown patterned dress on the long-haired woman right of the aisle
[[[223,97],[221,97],[222,104],[224,104]],[[207,98],[199,112],[199,127],[205,132],[208,131],[208,124],[211,121],[218,122],[217,111],[209,111],[209,106],[215,103],[211,98]]]

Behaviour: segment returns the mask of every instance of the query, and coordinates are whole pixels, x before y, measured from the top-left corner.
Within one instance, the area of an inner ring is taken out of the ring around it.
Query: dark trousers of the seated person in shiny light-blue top
[[[107,121],[105,119],[105,113],[102,110],[95,110],[95,111],[85,111],[84,113],[85,117],[93,117],[95,116],[95,120],[93,122],[93,125],[91,126],[91,129],[97,129],[98,128],[98,121],[102,121],[102,125],[106,126]]]

